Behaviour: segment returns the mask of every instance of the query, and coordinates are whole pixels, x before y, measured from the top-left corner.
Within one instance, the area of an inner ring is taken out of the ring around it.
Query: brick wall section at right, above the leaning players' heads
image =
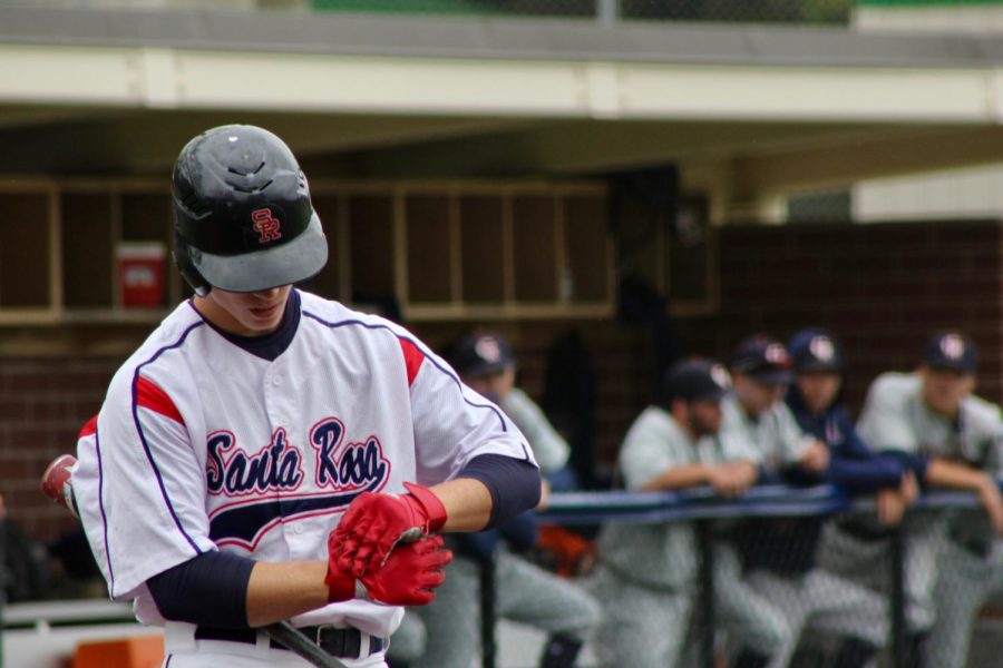
[[[1003,400],[999,223],[729,227],[720,236],[720,315],[678,323],[686,350],[728,357],[753,331],[839,335],[851,407],[884,371],[915,366],[929,334],[968,333],[978,393]]]

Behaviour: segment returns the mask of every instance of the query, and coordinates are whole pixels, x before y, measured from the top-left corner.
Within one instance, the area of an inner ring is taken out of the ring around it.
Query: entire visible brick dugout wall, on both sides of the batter
[[[786,338],[809,324],[827,326],[847,345],[848,399],[856,406],[877,373],[914,365],[932,330],[957,326],[981,348],[981,393],[1001,401],[1001,250],[997,223],[724,228],[720,313],[675,323],[682,352],[727,360],[750,332]],[[415,331],[438,346],[462,326]],[[569,328],[591,352],[596,445],[608,461],[649,401],[651,336],[612,318],[499,325],[532,396],[543,394],[551,342]],[[11,517],[43,539],[74,522],[37,492],[38,475],[74,448],[121,358],[0,358],[0,492]]]

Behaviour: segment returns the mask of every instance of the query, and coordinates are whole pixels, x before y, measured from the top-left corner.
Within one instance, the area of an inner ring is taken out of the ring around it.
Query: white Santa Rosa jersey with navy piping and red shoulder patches
[[[163,623],[145,581],[206,550],[328,560],[361,492],[435,484],[473,458],[534,462],[518,429],[403,328],[298,293],[274,361],[181,304],[111,381],[74,488],[111,598]],[[290,298],[296,298],[291,294]],[[400,608],[354,600],[293,620],[388,637]]]

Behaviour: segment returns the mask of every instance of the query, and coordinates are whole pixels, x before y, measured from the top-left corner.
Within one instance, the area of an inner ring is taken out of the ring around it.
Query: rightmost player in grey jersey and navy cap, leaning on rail
[[[1003,531],[1003,501],[986,473],[999,465],[1001,422],[997,406],[972,394],[975,369],[975,346],[966,336],[955,331],[937,333],[915,373],[885,373],[874,381],[857,426],[876,451],[890,453],[909,466],[923,487],[974,492],[984,511],[981,536],[986,543],[993,531]],[[933,595],[937,573],[945,570],[943,563],[938,566],[938,552],[948,534],[948,513],[923,512],[907,519],[904,568],[909,665],[919,665],[925,647],[933,649],[933,644],[924,645],[923,639],[939,615]],[[960,530],[951,532],[954,544],[948,542],[948,552],[955,553],[954,547],[964,549],[967,533],[958,525],[952,529]],[[851,519],[827,529],[821,562],[834,572],[887,592],[887,550],[880,528]],[[948,664],[931,664],[944,665]]]

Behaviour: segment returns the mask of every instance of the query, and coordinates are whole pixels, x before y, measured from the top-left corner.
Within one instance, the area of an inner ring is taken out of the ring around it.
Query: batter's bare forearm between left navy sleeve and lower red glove
[[[247,583],[247,625],[260,627],[328,603],[323,561],[259,561]]]

